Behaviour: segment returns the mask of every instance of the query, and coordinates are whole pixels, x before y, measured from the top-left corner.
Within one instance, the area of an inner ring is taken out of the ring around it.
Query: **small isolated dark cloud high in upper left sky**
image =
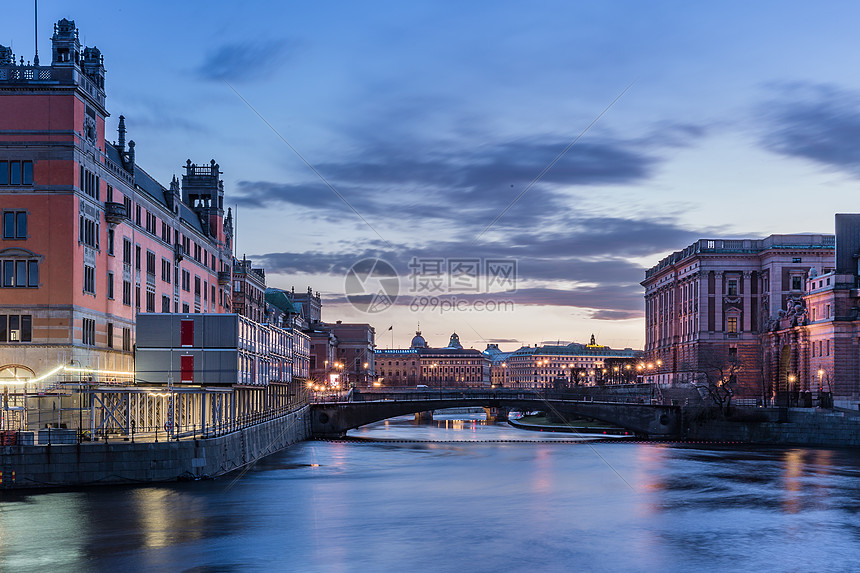
[[[248,81],[264,78],[290,60],[296,44],[286,40],[224,43],[206,54],[196,68],[203,79]]]

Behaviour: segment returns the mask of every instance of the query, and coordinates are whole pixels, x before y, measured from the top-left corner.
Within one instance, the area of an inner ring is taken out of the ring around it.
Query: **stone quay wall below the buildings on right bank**
[[[760,408],[767,421],[704,420],[687,422],[690,440],[750,444],[858,447],[860,416],[849,412],[822,412],[792,408],[779,421],[776,408]],[[784,412],[785,413],[785,412]]]

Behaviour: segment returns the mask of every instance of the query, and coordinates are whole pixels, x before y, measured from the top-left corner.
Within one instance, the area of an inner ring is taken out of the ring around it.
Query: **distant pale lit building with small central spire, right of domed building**
[[[594,335],[588,344],[523,346],[505,359],[506,385],[558,388],[633,382],[636,379],[633,365],[641,357],[640,351],[631,348],[617,350],[597,344]]]

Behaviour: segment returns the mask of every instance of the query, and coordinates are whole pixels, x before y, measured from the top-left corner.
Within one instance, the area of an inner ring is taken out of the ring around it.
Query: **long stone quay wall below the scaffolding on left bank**
[[[0,489],[168,482],[218,477],[310,436],[305,406],[206,439],[0,447]]]

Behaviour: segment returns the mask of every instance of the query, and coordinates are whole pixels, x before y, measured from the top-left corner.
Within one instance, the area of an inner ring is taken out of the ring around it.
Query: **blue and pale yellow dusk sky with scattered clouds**
[[[380,348],[642,348],[667,254],[860,209],[854,2],[43,0],[42,63],[64,17],[109,138],[165,185],[214,158],[237,255]]]

